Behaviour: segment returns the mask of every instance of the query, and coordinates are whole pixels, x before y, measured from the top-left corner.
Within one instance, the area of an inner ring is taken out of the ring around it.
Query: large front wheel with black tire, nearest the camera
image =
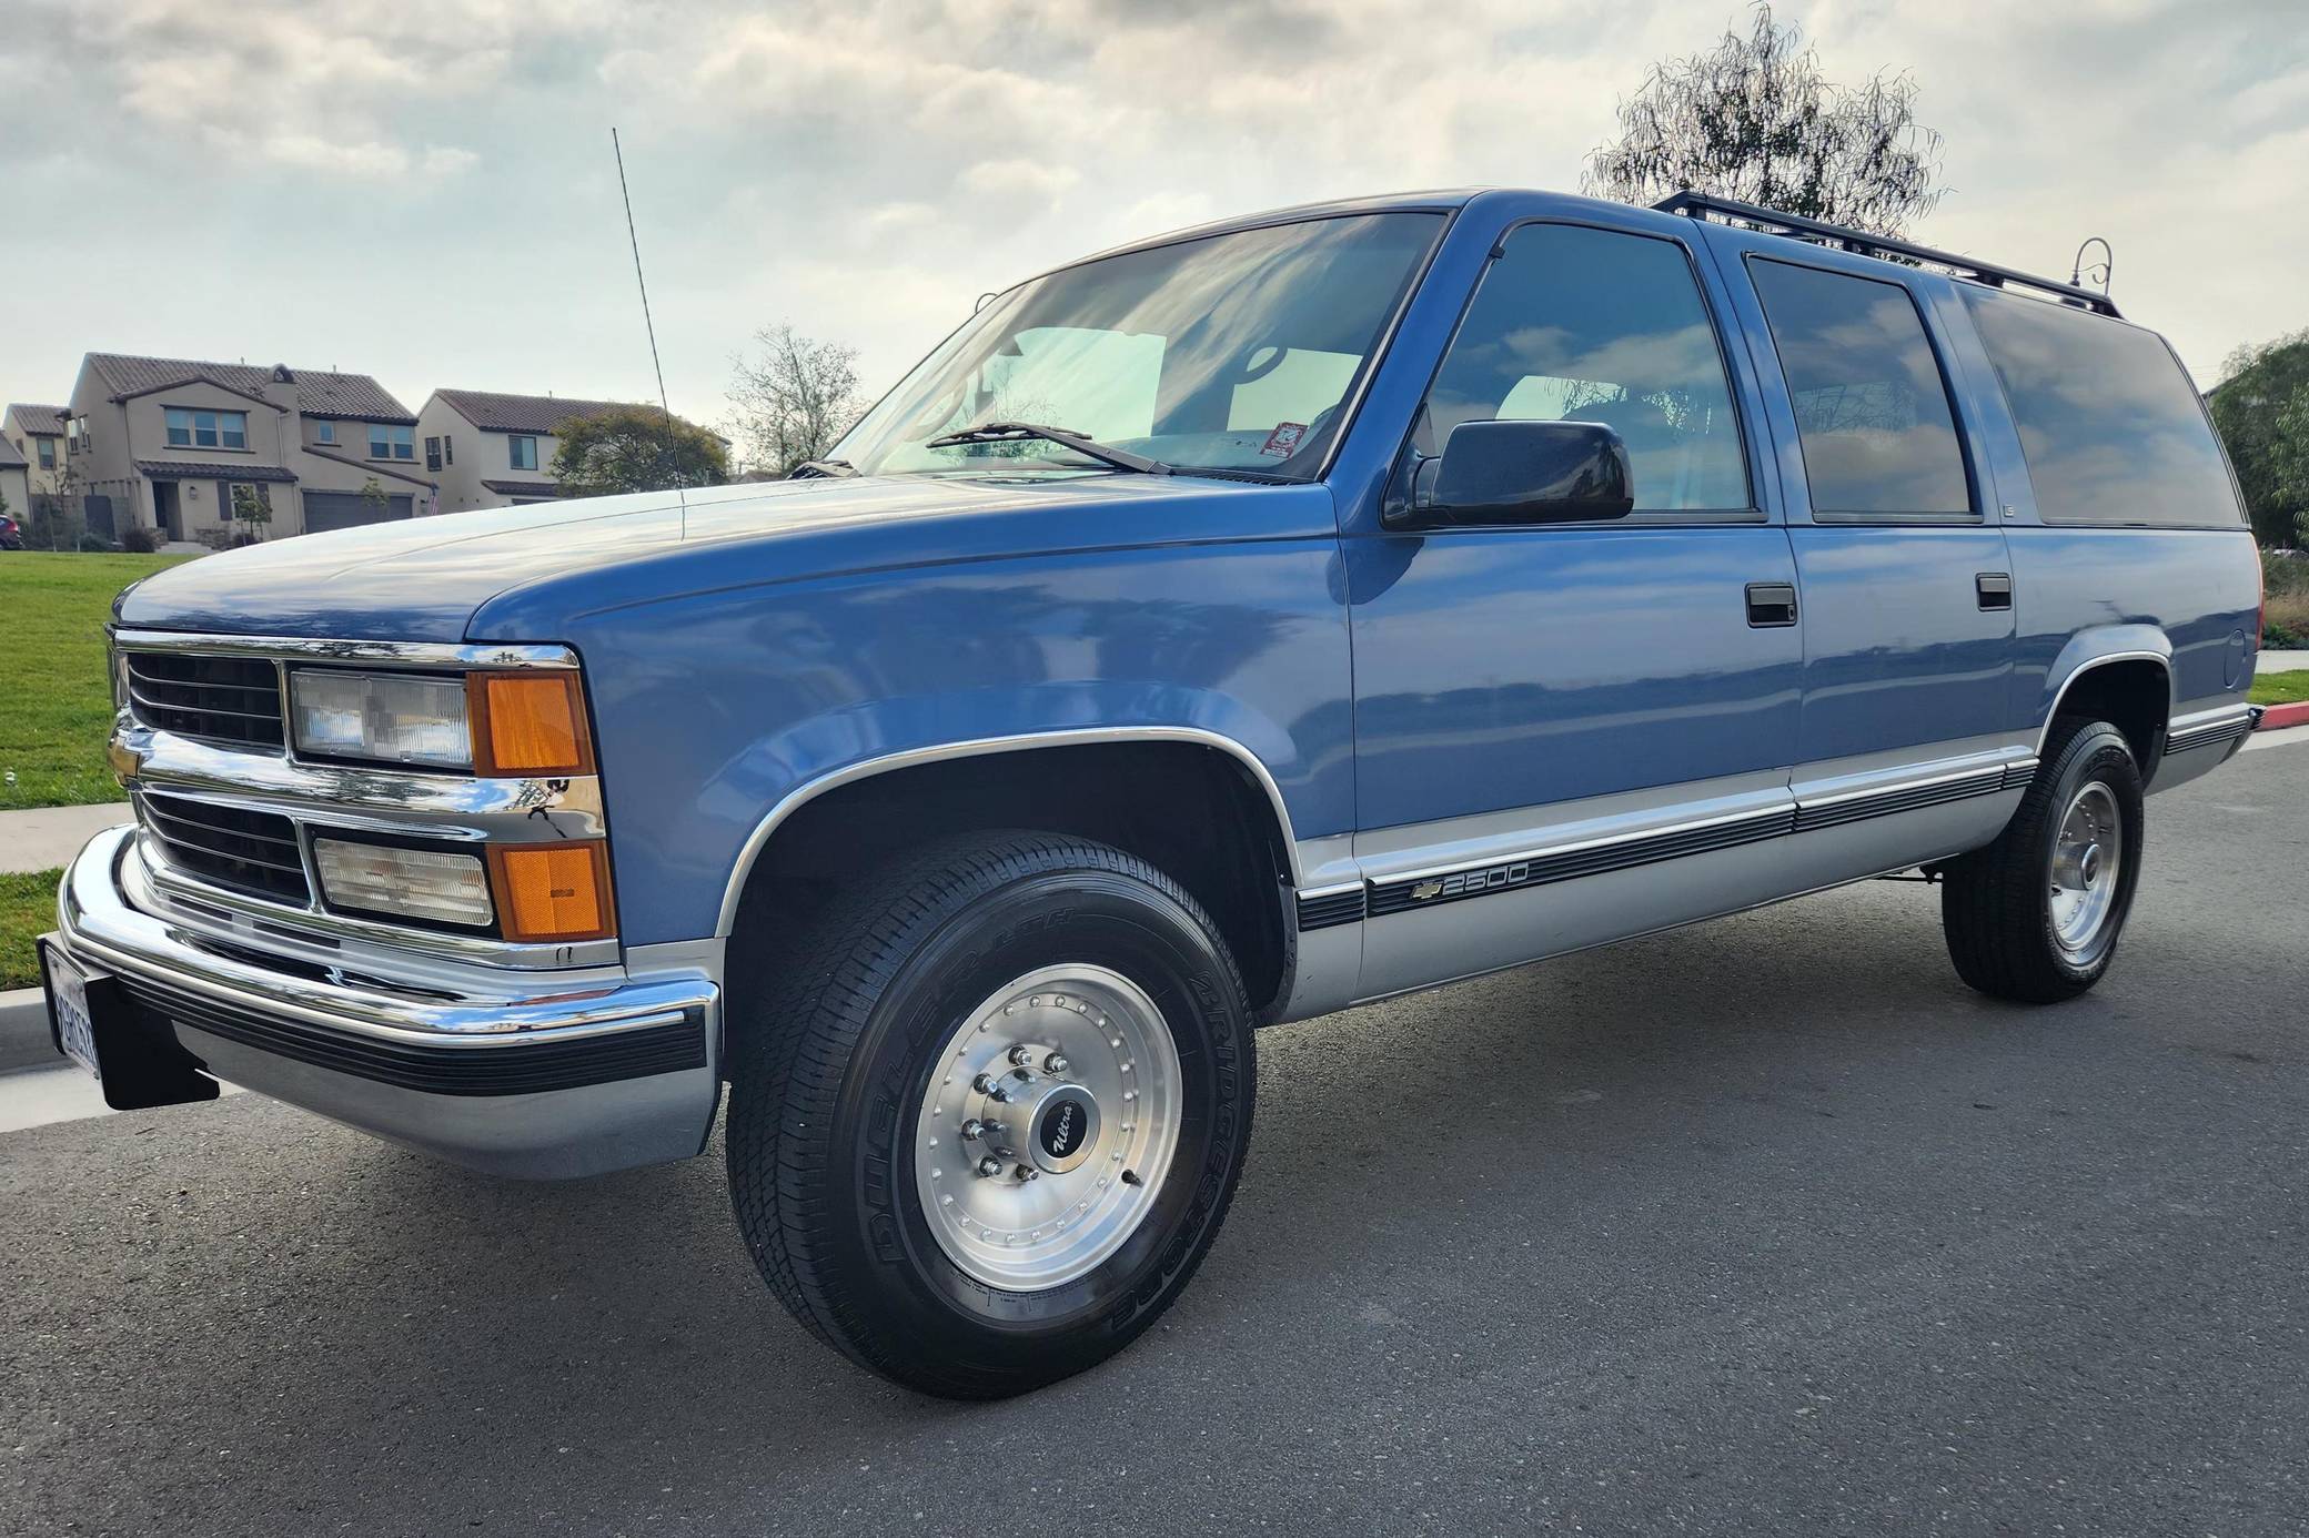
[[[767,956],[776,914],[737,947]],[[1251,1127],[1208,914],[1120,850],[947,841],[753,965],[730,1194],[780,1302],[857,1362],[988,1399],[1127,1346],[1187,1286]]]

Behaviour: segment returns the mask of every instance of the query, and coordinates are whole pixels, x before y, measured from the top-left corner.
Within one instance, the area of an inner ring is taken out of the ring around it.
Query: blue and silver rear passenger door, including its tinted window
[[[1946,279],[1711,226],[1746,277],[1803,607],[1806,884],[1972,848],[2018,799],[2013,580],[1979,425],[1928,321]],[[1729,249],[1727,249],[1729,247]],[[1953,303],[1953,300],[1951,300]]]

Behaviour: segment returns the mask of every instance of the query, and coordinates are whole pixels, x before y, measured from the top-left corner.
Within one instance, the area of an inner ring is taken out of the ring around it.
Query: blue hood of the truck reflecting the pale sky
[[[1312,485],[1189,476],[894,476],[448,513],[185,561],[113,605],[129,628],[360,640],[554,640],[556,612],[887,563],[1210,538],[1249,503],[1261,533],[1335,529]],[[1275,503],[1298,508],[1275,520]],[[501,600],[501,603],[492,603]],[[476,624],[490,619],[506,628]],[[529,633],[520,633],[529,628]]]

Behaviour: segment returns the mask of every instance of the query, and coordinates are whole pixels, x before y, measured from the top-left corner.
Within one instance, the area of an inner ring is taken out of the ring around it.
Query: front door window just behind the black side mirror
[[[1420,418],[1420,450],[1478,420],[1602,423],[1644,513],[1746,508],[1716,328],[1672,240],[1526,224],[1482,277]]]

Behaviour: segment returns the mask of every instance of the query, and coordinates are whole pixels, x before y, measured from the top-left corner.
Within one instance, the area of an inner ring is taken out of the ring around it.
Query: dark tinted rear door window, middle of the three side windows
[[[1750,261],[1813,513],[1970,513],[1949,390],[1900,284]]]

